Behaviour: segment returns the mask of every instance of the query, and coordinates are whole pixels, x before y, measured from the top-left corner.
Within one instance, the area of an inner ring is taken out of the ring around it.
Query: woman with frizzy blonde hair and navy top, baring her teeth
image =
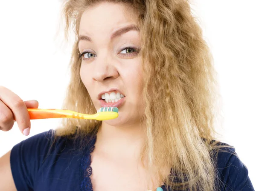
[[[64,108],[115,105],[119,117],[66,119],[15,145],[0,159],[0,190],[253,190],[235,149],[214,137],[212,57],[186,0],[67,0],[64,15],[76,34]],[[38,103],[0,92],[1,129],[15,117],[28,135],[26,108]],[[110,93],[122,99],[108,103]]]

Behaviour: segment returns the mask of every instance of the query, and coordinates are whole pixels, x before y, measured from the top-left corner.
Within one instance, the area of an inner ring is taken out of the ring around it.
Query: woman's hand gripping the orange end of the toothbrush
[[[29,135],[30,118],[27,108],[38,108],[38,101],[24,102],[11,90],[0,86],[0,130],[11,130],[17,121],[20,132]]]

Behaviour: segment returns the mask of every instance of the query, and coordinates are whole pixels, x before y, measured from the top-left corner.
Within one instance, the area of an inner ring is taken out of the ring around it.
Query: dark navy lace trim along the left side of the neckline
[[[87,147],[84,149],[84,153],[81,159],[81,172],[80,172],[80,180],[81,182],[81,191],[93,191],[92,181],[90,176],[92,175],[91,168],[91,153],[95,148],[96,136],[93,137],[92,140],[88,142]]]

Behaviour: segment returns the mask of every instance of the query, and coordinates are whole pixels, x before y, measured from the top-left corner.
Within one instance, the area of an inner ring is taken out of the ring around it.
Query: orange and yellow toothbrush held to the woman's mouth
[[[96,114],[81,114],[67,109],[28,108],[30,120],[49,118],[75,118],[82,120],[112,120],[118,117],[118,108],[99,108]]]

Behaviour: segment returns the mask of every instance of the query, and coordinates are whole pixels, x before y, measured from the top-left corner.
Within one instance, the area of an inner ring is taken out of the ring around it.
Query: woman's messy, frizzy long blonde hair
[[[66,37],[70,29],[75,34],[63,107],[85,114],[96,113],[96,108],[79,74],[79,24],[83,12],[102,1],[65,0],[63,4]],[[138,19],[146,125],[141,160],[145,169],[172,190],[218,190],[217,75],[188,0],[105,1],[133,9]],[[55,135],[96,134],[101,123],[63,119]]]

